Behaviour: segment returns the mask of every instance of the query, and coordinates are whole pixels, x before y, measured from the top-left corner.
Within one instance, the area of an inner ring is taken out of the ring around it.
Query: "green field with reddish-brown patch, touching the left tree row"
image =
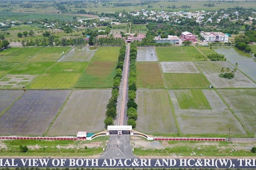
[[[112,87],[116,62],[92,62],[77,80],[74,87],[104,88]]]

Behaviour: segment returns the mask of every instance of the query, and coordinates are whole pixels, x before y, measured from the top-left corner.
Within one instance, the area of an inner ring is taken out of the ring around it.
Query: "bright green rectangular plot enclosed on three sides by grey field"
[[[202,90],[174,90],[181,109],[212,109]]]

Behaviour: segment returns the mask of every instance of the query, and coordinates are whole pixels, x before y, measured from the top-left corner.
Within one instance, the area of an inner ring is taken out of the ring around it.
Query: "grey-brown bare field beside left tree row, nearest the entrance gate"
[[[47,135],[76,135],[78,131],[95,133],[104,130],[106,104],[110,97],[111,89],[74,90]]]

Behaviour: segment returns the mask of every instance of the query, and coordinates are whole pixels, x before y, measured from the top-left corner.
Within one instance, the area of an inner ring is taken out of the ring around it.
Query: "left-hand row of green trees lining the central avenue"
[[[113,83],[113,89],[111,91],[111,98],[109,99],[109,102],[106,106],[106,113],[105,113],[105,120],[104,124],[107,127],[108,125],[114,124],[114,119],[116,118],[116,104],[117,104],[117,98],[119,96],[119,86],[122,79],[122,70],[124,65],[124,59],[125,59],[125,52],[126,52],[126,46],[125,43],[122,44],[120,50],[119,50],[119,56],[118,56],[118,64],[116,66],[116,76],[114,78]]]

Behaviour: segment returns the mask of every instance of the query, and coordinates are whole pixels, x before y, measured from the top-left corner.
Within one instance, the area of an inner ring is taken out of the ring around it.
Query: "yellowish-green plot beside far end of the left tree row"
[[[98,50],[94,53],[92,61],[117,61],[119,49],[119,47],[99,47]]]

